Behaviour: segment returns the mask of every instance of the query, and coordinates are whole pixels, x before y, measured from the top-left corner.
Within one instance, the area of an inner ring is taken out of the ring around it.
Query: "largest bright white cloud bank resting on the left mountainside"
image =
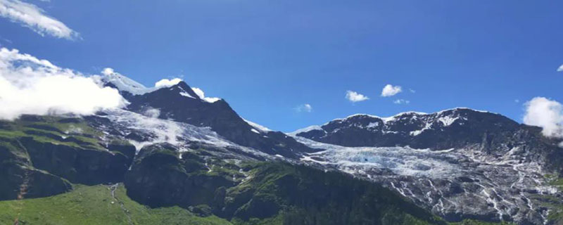
[[[117,90],[17,49],[0,49],[0,119],[23,114],[90,115],[125,106]]]

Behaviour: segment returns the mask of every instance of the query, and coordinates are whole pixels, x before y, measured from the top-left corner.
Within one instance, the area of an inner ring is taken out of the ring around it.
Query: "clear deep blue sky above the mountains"
[[[1,46],[146,86],[182,77],[270,129],[454,107],[521,122],[531,98],[563,101],[555,1],[25,2],[78,36],[0,18]],[[386,84],[403,91],[382,97]],[[348,90],[369,100],[350,102]]]

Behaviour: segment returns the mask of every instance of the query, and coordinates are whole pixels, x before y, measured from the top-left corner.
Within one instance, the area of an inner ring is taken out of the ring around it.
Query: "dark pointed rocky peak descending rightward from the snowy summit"
[[[314,151],[281,132],[255,129],[239,117],[226,101],[204,101],[185,82],[147,94],[125,93],[124,96],[131,103],[128,110],[144,115],[155,113],[160,119],[198,127],[211,127],[229,141],[270,155],[298,158],[298,153]]]

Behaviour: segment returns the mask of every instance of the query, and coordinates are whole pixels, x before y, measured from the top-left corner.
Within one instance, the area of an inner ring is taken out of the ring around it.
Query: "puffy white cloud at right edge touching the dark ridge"
[[[563,105],[548,98],[536,97],[526,104],[524,124],[543,128],[543,135],[563,137]]]

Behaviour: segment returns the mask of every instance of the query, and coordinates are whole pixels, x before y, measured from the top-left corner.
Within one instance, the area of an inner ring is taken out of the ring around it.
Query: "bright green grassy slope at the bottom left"
[[[20,224],[230,224],[215,216],[196,217],[180,207],[149,209],[127,198],[122,185],[115,199],[108,186],[98,185],[75,186],[49,198],[0,202],[0,224],[13,224],[18,214]]]

